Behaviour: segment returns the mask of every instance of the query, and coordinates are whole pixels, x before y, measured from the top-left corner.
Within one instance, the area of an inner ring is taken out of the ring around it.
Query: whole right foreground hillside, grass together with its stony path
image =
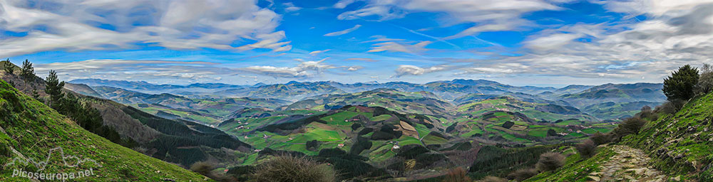
[[[600,145],[585,159],[572,149],[565,166],[528,181],[605,181],[635,178],[713,181],[713,93],[695,97],[678,112],[655,112],[637,134]]]

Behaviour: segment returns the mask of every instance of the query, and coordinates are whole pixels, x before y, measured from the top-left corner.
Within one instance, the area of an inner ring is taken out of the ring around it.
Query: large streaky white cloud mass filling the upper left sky
[[[232,43],[245,39],[264,41],[260,36],[274,32],[281,19],[251,0],[35,1],[33,4],[0,0],[0,4],[0,29],[28,33],[0,40],[3,57],[57,49],[132,48],[135,43],[172,49],[229,50]],[[145,13],[137,14],[138,11]],[[109,28],[98,28],[99,24]],[[272,48],[289,50],[288,46]]]

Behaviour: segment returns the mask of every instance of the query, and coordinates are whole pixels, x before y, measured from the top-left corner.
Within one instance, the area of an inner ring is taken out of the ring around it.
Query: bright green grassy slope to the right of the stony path
[[[644,150],[670,174],[713,181],[713,93],[694,98],[675,114],[662,114],[623,144]]]

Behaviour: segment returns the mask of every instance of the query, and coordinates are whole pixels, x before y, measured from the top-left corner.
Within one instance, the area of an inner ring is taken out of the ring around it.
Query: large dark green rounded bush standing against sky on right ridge
[[[664,94],[668,100],[689,100],[698,84],[698,69],[684,65],[664,79]]]

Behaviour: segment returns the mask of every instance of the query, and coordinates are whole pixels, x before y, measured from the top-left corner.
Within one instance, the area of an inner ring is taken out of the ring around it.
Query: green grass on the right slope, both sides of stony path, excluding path
[[[648,163],[666,176],[681,181],[713,181],[713,94],[699,96],[679,112],[660,114],[638,134],[622,138],[618,144],[641,149]],[[610,146],[600,147],[590,159],[578,154],[567,158],[557,171],[540,173],[528,181],[588,181],[588,174],[600,172],[602,161],[613,156]],[[566,154],[566,153],[565,153]]]

